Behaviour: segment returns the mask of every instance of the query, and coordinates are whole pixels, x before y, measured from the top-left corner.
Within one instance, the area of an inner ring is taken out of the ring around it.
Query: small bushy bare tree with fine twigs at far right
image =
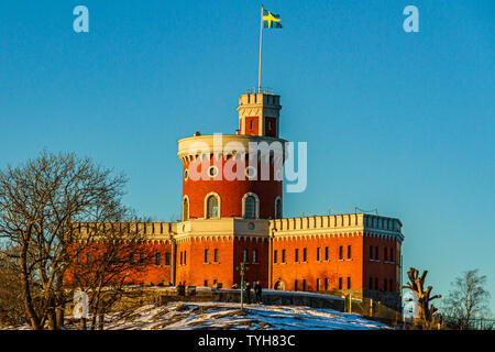
[[[457,277],[452,290],[444,299],[443,311],[447,322],[460,330],[474,329],[475,318],[490,316],[490,293],[485,290],[486,275],[479,270],[464,272]]]

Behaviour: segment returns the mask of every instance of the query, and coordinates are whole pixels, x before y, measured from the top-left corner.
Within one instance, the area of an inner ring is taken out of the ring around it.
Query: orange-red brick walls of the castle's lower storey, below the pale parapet
[[[399,292],[400,242],[363,232],[277,239],[204,237],[146,246],[153,258],[160,253],[160,262],[152,260],[146,272],[133,277],[134,284],[169,282],[211,287],[217,282],[231,287],[240,283],[237,267],[245,262],[245,279],[261,280],[264,287]]]

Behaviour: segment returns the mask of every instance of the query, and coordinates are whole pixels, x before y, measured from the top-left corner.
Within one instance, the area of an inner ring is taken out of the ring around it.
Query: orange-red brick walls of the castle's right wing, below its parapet
[[[372,243],[372,244],[371,244]],[[366,249],[378,249],[380,258],[370,261]],[[362,235],[323,239],[284,239],[273,244],[273,280],[282,282],[286,289],[333,290],[377,289],[399,292],[399,262],[384,261],[383,251],[399,248],[395,240],[377,240]],[[285,251],[285,263],[283,253]],[[296,251],[298,258],[296,260]],[[306,251],[306,260],[305,260]],[[276,252],[276,253],[275,253]],[[399,252],[397,255],[400,255]],[[370,287],[372,278],[372,287]],[[375,285],[375,279],[378,286]],[[387,286],[384,287],[384,283]],[[297,284],[296,284],[297,282]],[[298,287],[296,287],[296,285]]]

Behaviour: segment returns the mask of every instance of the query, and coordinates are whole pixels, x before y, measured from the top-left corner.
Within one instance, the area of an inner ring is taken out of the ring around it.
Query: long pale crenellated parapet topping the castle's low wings
[[[398,219],[346,213],[334,216],[315,216],[283,218],[273,220],[222,218],[218,220],[194,219],[182,222],[118,222],[73,224],[73,231],[80,238],[91,237],[96,232],[120,231],[139,233],[147,241],[183,241],[185,239],[274,239],[284,237],[372,237],[404,240],[402,222]]]

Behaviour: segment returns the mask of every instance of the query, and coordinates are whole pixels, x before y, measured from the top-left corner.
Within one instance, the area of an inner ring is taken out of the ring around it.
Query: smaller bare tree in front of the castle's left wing
[[[91,330],[103,329],[105,316],[129,294],[127,285],[140,282],[156,253],[145,245],[144,222],[76,224],[95,240],[68,272],[68,285],[88,294]],[[96,233],[96,234],[95,234]],[[98,326],[97,326],[98,318]],[[81,318],[84,319],[84,318]],[[86,324],[81,320],[81,329]]]

